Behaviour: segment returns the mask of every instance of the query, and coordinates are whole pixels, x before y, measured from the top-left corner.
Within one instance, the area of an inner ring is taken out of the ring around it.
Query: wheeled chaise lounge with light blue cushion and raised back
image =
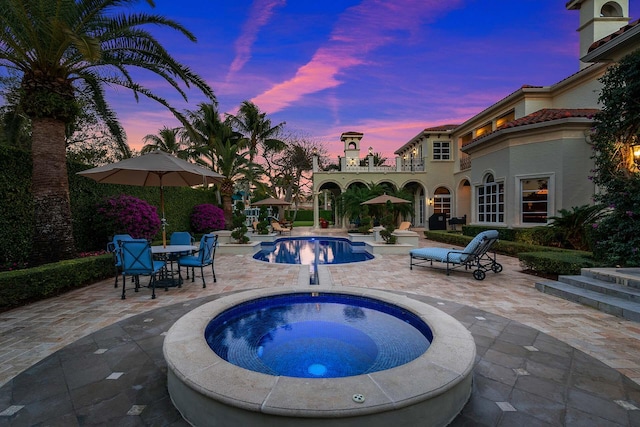
[[[447,276],[449,272],[458,267],[465,270],[473,270],[473,277],[476,280],[483,280],[486,271],[500,273],[502,265],[496,262],[496,254],[489,254],[489,249],[498,241],[498,232],[488,230],[479,233],[462,250],[447,248],[419,248],[409,251],[410,269],[413,266],[432,267],[433,261],[446,264]]]

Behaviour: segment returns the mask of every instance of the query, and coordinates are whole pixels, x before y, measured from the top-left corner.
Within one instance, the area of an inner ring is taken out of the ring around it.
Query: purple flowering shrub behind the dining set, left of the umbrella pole
[[[162,225],[155,206],[124,194],[99,203],[97,213],[108,235],[126,233],[135,239],[151,240]]]

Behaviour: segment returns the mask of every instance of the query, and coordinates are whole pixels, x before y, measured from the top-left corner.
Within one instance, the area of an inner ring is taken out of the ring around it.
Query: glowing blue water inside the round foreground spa
[[[421,319],[372,298],[296,293],[260,298],[205,329],[226,361],[269,375],[337,378],[390,369],[422,355],[433,334]]]

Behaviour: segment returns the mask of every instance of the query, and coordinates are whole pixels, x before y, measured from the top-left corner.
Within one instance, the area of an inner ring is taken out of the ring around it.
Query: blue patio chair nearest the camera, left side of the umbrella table
[[[145,239],[120,240],[119,251],[122,260],[122,299],[125,299],[126,276],[133,276],[135,292],[140,289],[140,276],[151,276],[151,299],[155,299],[156,274],[165,267],[165,261],[153,259],[151,245]]]

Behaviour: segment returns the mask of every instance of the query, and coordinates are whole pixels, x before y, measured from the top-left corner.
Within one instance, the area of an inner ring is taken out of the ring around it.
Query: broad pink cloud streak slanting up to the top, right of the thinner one
[[[397,42],[403,32],[410,32],[413,26],[432,20],[459,3],[458,0],[364,0],[341,15],[326,45],[319,48],[294,77],[251,101],[263,111],[275,113],[305,95],[339,86],[339,75],[344,69],[368,62],[368,54],[374,49]]]

